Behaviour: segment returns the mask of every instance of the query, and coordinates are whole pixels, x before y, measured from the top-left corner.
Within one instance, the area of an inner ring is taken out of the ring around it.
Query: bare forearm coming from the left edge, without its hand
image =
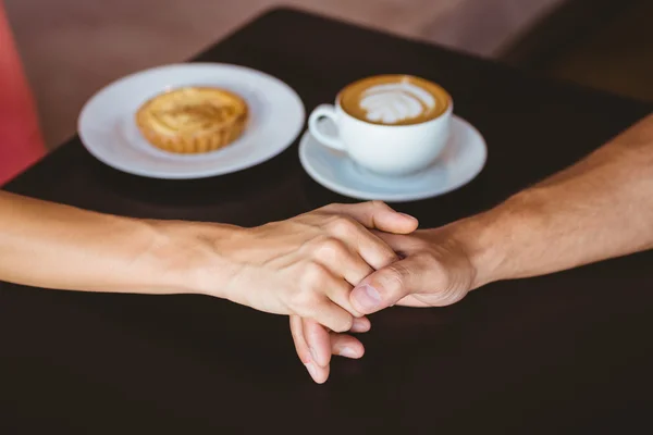
[[[184,273],[201,253],[175,237],[181,229],[171,228],[174,223],[94,213],[0,191],[0,279],[89,291],[192,291],[194,283]]]

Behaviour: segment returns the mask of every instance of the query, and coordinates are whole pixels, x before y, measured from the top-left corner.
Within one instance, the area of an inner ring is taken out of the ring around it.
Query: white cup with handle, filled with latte
[[[383,175],[406,175],[429,166],[449,136],[453,100],[441,86],[410,75],[378,75],[347,85],[335,105],[321,104],[309,117],[321,144],[345,151],[359,165]],[[337,136],[323,133],[331,119]]]

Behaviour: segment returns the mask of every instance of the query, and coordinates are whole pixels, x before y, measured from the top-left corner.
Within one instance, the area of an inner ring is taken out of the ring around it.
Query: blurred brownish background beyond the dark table
[[[0,0],[2,1],[2,0]],[[48,147],[132,72],[188,59],[294,5],[653,101],[652,0],[4,0]]]

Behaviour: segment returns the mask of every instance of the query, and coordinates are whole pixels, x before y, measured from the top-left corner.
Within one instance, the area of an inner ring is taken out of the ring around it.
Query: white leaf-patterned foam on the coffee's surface
[[[410,83],[372,86],[360,98],[366,119],[383,124],[419,117],[435,109],[435,98]]]

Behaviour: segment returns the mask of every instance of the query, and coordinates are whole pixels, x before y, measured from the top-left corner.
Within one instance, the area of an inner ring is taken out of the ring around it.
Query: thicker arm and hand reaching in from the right
[[[405,258],[358,284],[352,307],[369,314],[394,303],[445,306],[494,281],[653,249],[652,192],[653,114],[492,210],[411,236],[378,234]],[[301,326],[294,326],[295,336],[304,333],[295,343],[300,356],[303,346],[320,356],[318,382],[329,374],[328,350],[337,353],[348,343],[355,357],[362,355],[359,341]]]

